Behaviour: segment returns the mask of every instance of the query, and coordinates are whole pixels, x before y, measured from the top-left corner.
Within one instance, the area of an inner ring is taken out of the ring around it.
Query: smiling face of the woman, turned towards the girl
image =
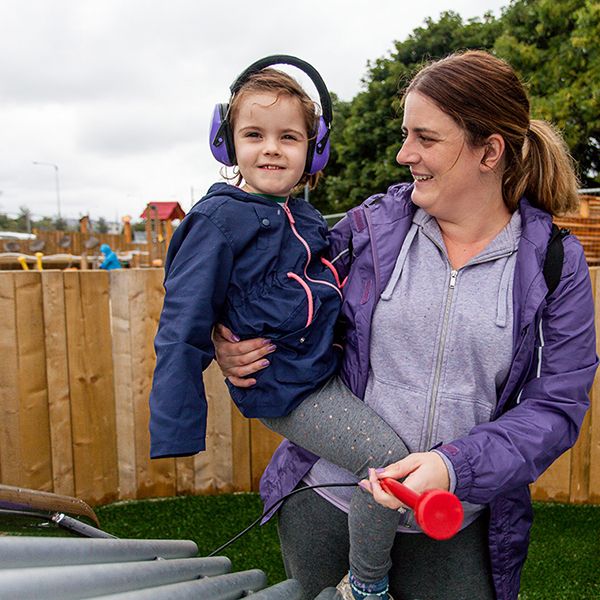
[[[405,99],[402,130],[406,138],[396,160],[410,167],[413,202],[447,220],[476,209],[484,148],[472,148],[454,119],[419,92]]]

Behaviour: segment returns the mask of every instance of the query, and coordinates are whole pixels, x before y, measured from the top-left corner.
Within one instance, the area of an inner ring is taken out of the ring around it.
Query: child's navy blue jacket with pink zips
[[[192,208],[165,264],[150,394],[153,458],[205,449],[202,371],[214,357],[216,323],[277,346],[255,386],[229,385],[246,417],[288,414],[336,372],[341,294],[337,274],[321,260],[327,237],[323,217],[301,199],[280,205],[218,183]]]

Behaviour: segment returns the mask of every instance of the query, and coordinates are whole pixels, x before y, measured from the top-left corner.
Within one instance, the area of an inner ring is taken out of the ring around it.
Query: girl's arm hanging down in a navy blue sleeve
[[[154,340],[150,454],[188,456],[205,449],[202,371],[214,356],[211,331],[225,301],[233,252],[206,216],[177,228],[165,268],[165,300]]]

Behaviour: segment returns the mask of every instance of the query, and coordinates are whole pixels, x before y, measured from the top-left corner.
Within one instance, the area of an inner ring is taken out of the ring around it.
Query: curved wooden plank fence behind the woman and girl
[[[215,365],[205,375],[208,450],[149,459],[162,277],[162,269],[0,273],[0,482],[93,505],[258,489],[280,438],[240,415]],[[600,377],[577,445],[533,486],[535,498],[600,503],[599,386]]]

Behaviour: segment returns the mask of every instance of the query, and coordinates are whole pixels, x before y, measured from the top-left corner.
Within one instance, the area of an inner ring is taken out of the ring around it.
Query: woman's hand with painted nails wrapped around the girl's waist
[[[269,366],[265,358],[275,351],[276,346],[270,340],[255,338],[240,342],[225,325],[216,325],[213,329],[216,361],[221,372],[236,387],[251,387],[256,379],[247,378]]]

